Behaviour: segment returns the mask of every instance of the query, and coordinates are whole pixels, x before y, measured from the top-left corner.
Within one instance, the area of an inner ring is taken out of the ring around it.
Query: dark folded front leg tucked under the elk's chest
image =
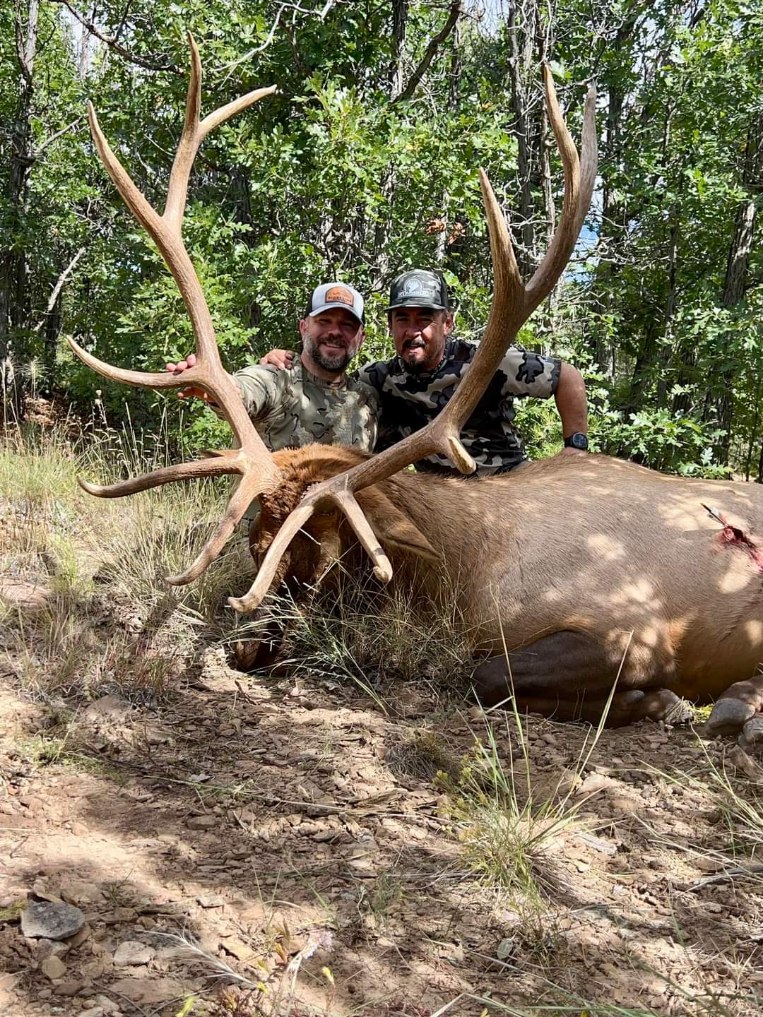
[[[620,661],[583,633],[561,632],[482,661],[474,671],[475,694],[483,706],[516,697],[518,706],[559,720],[597,721],[606,706]],[[615,693],[607,715],[611,725],[653,720],[685,722],[688,708],[666,689],[654,687],[656,676],[627,670],[626,691]],[[641,689],[628,685],[639,684]],[[646,686],[646,687],[644,687]]]

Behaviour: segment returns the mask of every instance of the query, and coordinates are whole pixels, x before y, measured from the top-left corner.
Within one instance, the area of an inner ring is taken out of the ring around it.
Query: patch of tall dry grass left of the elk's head
[[[241,541],[232,542],[201,582],[168,587],[165,577],[186,567],[203,544],[225,492],[202,483],[93,498],[76,477],[114,479],[115,447],[134,469],[139,450],[125,432],[104,431],[86,443],[72,441],[64,427],[3,435],[2,572],[6,582],[43,592],[45,603],[33,610],[6,601],[0,615],[12,671],[36,698],[161,696],[179,655],[226,613],[225,596],[247,560]],[[156,465],[144,462],[142,470]]]

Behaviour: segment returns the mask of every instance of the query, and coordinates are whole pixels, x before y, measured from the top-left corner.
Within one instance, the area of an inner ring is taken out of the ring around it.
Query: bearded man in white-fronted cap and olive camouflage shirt
[[[266,444],[274,452],[313,442],[370,452],[376,440],[378,397],[370,385],[347,374],[365,338],[363,298],[346,283],[316,286],[299,334],[301,352],[286,370],[257,364],[233,375]],[[180,374],[194,363],[191,354],[167,364],[167,370]],[[194,387],[181,396],[207,399]]]

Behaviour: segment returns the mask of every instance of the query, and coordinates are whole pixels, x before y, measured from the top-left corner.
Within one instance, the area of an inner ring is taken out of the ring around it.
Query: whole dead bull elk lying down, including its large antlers
[[[340,555],[362,557],[362,548],[380,581],[395,576],[410,583],[415,573],[422,596],[436,598],[447,590],[457,599],[473,633],[480,661],[474,681],[486,704],[514,695],[523,708],[596,719],[617,681],[610,722],[674,715],[677,697],[719,698],[709,730],[742,729],[763,707],[763,489],[663,476],[602,456],[556,457],[471,481],[401,472],[435,452],[461,473],[474,470],[459,438],[461,427],[519,327],[560,279],[588,211],[596,173],[593,91],[579,156],[544,70],[565,201],[548,251],[527,285],[504,216],[480,174],[493,301],[478,354],[443,412],[378,456],[326,445],[272,455],[222,367],[181,224],[202,138],[274,88],[252,92],[200,120],[201,71],[192,40],[190,48],[185,125],[162,216],[120,166],[92,108],[90,119],[112,180],[177,281],[193,324],[196,365],[182,377],[138,373],[71,345],[86,364],[117,381],[199,386],[223,409],[238,447],[108,487],[82,482],[84,489],[120,497],[170,481],[236,474],[219,527],[188,570],[168,582],[196,579],[259,497],[261,513],[250,534],[259,570],[247,593],[230,598],[237,611],[253,611],[285,577],[314,582],[328,562]]]

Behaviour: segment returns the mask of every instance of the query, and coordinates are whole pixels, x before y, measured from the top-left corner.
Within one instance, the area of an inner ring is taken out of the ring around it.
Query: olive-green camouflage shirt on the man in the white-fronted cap
[[[299,357],[286,370],[244,367],[233,375],[262,440],[278,448],[352,445],[371,452],[376,440],[378,397],[353,377],[337,384],[310,374]]]

